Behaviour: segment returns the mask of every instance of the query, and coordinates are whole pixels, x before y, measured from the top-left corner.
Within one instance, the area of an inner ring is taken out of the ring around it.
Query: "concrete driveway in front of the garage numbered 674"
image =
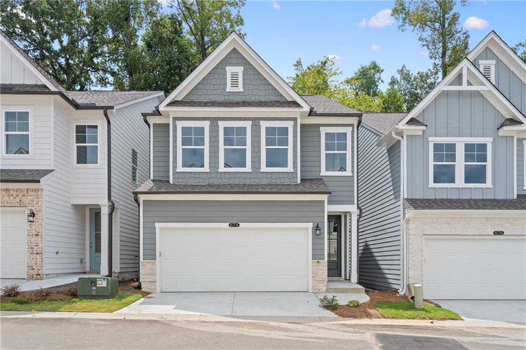
[[[319,307],[318,296],[308,292],[154,293],[118,313],[205,314],[225,316],[337,317]],[[365,294],[338,294],[340,303],[365,302]]]

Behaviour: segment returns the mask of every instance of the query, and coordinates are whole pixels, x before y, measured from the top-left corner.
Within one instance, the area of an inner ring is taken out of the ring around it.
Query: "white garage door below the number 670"
[[[526,237],[424,238],[424,297],[526,299]]]

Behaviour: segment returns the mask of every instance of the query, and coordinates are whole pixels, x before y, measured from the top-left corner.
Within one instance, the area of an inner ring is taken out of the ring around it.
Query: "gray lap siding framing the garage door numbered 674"
[[[312,222],[312,259],[325,260],[323,201],[143,201],[143,260],[156,260],[156,222]],[[285,239],[285,238],[284,238]]]

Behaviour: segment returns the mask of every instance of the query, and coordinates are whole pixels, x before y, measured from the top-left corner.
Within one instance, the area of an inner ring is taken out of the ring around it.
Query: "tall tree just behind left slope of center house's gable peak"
[[[183,19],[200,61],[230,33],[245,37],[240,33],[245,23],[239,13],[245,0],[168,0],[168,4],[175,7]]]

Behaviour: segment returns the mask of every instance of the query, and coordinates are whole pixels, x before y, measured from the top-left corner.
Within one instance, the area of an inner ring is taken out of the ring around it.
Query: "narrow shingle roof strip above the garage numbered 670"
[[[518,194],[517,199],[406,198],[404,202],[409,210],[526,210],[526,194]]]

